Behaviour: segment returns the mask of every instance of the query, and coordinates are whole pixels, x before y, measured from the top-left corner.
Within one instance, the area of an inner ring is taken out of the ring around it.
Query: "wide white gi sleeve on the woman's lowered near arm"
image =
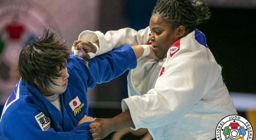
[[[130,110],[135,129],[173,123],[206,94],[220,73],[220,66],[206,48],[181,49],[166,62],[155,87],[142,96],[122,100],[122,109]]]

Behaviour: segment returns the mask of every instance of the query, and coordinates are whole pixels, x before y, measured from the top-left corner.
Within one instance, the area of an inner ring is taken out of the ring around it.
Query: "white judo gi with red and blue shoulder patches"
[[[149,27],[125,28],[105,35],[84,31],[79,39],[99,39],[101,54],[124,44],[147,44],[149,34]],[[155,140],[211,140],[219,121],[237,114],[221,67],[197,29],[171,45],[164,60],[139,58],[128,74],[128,93],[123,111],[130,110],[134,129],[148,128]]]

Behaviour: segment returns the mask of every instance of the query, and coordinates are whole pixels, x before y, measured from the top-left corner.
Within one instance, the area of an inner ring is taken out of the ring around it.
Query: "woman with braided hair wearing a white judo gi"
[[[99,54],[126,43],[152,43],[160,58],[138,59],[137,67],[128,74],[129,98],[122,101],[123,113],[90,124],[94,140],[129,127],[148,128],[155,140],[215,138],[219,121],[237,112],[223,82],[222,68],[205,35],[196,29],[209,17],[209,8],[201,0],[161,0],[144,30],[80,34],[80,40],[99,40]]]

